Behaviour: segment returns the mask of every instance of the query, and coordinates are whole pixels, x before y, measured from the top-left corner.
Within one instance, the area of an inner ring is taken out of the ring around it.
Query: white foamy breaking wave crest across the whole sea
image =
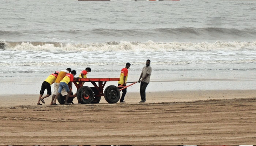
[[[60,42],[5,42],[0,41],[0,49],[11,51],[46,51],[46,52],[102,52],[102,51],[218,51],[218,50],[256,50],[254,42],[106,42],[106,43],[60,43]]]

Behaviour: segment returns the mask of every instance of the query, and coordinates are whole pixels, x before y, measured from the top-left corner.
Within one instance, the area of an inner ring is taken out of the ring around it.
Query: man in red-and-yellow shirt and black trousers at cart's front
[[[118,81],[118,86],[120,85],[123,85],[123,86],[126,86],[126,81],[127,81],[127,78],[128,78],[128,69],[130,68],[131,64],[129,62],[126,63],[125,65],[125,68],[123,68],[121,70],[121,73],[120,73],[120,81]],[[123,87],[120,87],[119,89],[121,89]],[[122,96],[121,96],[121,99],[120,99],[120,103],[125,103],[124,101],[124,96],[127,92],[127,88],[123,89],[122,90]]]

